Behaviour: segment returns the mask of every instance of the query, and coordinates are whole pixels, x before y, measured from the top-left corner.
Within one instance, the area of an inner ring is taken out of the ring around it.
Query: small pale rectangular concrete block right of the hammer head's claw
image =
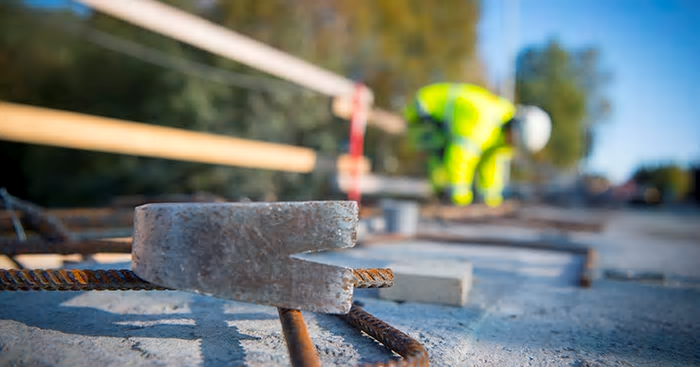
[[[389,265],[394,285],[379,297],[392,301],[464,306],[472,285],[472,264],[459,260],[414,260]]]

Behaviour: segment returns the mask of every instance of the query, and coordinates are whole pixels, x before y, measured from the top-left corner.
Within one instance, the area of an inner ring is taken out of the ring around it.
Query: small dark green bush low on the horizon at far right
[[[664,200],[682,200],[688,197],[691,172],[673,163],[643,165],[632,176],[638,185],[654,187]]]

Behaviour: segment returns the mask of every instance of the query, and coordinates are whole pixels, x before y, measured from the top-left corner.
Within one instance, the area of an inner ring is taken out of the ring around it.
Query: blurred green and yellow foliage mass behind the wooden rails
[[[299,0],[294,6],[283,0],[218,0],[207,7],[194,0],[165,2],[360,79],[385,108],[399,110],[416,88],[431,81],[483,84],[474,51],[476,0],[439,6],[416,0]],[[113,41],[104,37],[138,49],[115,51]],[[153,53],[167,62],[154,62]],[[206,70],[197,65],[192,70],[193,62]],[[2,100],[304,146],[328,155],[345,149],[348,125],[330,115],[327,97],[99,13],[0,2],[0,70]],[[221,78],[222,73],[229,78]],[[391,166],[400,144],[399,138],[370,128],[366,152],[374,168]],[[422,166],[410,156],[401,158],[406,167]],[[5,162],[0,186],[43,205],[103,204],[118,195],[196,191],[234,200],[333,195],[322,174],[2,141],[0,159]]]

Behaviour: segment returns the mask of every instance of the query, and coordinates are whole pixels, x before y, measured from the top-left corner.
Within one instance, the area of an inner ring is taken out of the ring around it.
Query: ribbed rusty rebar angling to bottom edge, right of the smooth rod
[[[423,367],[428,366],[428,352],[423,345],[392,327],[386,322],[372,316],[361,307],[353,304],[347,315],[339,315],[350,325],[364,331],[387,348],[403,357],[402,360],[390,360],[367,364],[369,367]]]

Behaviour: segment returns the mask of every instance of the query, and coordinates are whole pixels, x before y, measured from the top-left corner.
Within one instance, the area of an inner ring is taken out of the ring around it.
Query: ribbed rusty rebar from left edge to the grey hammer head
[[[131,270],[0,269],[0,291],[165,290]]]

